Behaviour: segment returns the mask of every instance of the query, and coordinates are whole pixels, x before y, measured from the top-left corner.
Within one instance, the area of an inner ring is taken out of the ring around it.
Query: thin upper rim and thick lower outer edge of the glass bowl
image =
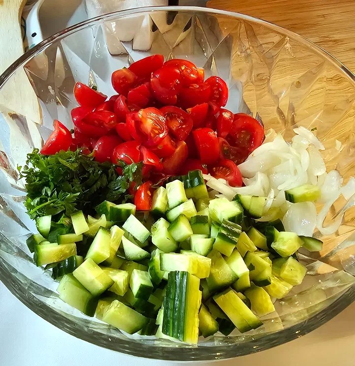
[[[192,12],[192,13],[210,13],[219,14],[234,17],[241,20],[251,21],[260,25],[265,25],[275,31],[279,31],[283,34],[290,36],[290,38],[297,40],[313,49],[325,59],[333,63],[338,67],[345,76],[350,79],[350,82],[355,84],[355,75],[344,66],[339,60],[330,55],[328,52],[323,50],[308,39],[294,33],[290,30],[286,30],[282,27],[276,26],[272,23],[254,18],[248,15],[213,9],[213,8],[202,8],[197,6],[154,6],[154,7],[142,7],[136,9],[128,9],[117,11],[105,15],[100,15],[95,18],[86,20],[72,27],[61,30],[60,32],[52,35],[51,37],[43,40],[41,43],[27,51],[23,56],[14,61],[1,75],[0,75],[0,90],[4,84],[11,78],[17,69],[24,67],[24,65],[31,60],[34,56],[44,51],[47,47],[51,46],[54,42],[65,38],[68,34],[75,33],[78,30],[84,29],[87,26],[94,25],[97,21],[110,21],[119,17],[128,15],[134,15],[139,13],[149,13],[157,11],[178,11],[178,12]],[[0,237],[1,240],[1,237]],[[83,326],[78,325],[72,320],[65,319],[64,317],[53,310],[50,306],[40,302],[34,296],[29,296],[26,287],[23,283],[12,273],[18,272],[17,269],[12,268],[11,271],[8,265],[0,262],[0,280],[7,287],[7,289],[16,296],[24,305],[30,308],[34,313],[39,315],[44,320],[53,324],[55,327],[65,331],[66,333],[83,339],[95,345],[103,348],[111,349],[114,351],[122,352],[137,357],[144,357],[158,360],[169,360],[169,361],[205,361],[205,360],[222,360],[229,359],[237,356],[244,356],[251,353],[266,350],[286,342],[289,342],[295,338],[306,335],[309,332],[317,329],[334,316],[339,314],[348,305],[355,301],[355,285],[350,287],[340,298],[335,300],[331,305],[325,309],[311,316],[310,318],[300,322],[294,326],[291,326],[282,331],[278,331],[267,336],[261,336],[256,339],[243,341],[240,343],[226,344],[219,346],[200,346],[200,347],[162,347],[160,345],[145,345],[139,344],[137,347],[136,340],[125,340],[125,339],[113,339],[108,335],[104,335],[99,332],[90,332]],[[183,352],[181,352],[183,350]]]

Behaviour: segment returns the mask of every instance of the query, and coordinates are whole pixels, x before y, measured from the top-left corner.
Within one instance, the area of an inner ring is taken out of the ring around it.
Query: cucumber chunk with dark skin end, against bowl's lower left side
[[[72,274],[65,274],[58,286],[59,298],[88,316],[94,316],[97,297],[93,296]]]

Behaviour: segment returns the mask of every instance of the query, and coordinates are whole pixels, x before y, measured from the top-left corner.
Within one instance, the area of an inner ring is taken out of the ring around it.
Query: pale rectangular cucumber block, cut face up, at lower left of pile
[[[74,277],[94,296],[101,295],[114,281],[97,264],[88,258],[74,272]]]

